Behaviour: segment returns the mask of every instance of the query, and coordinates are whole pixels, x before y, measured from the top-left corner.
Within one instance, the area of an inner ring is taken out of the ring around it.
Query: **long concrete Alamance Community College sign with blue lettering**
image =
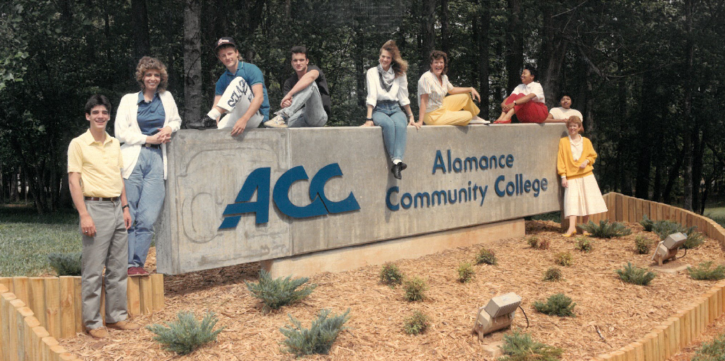
[[[157,268],[186,273],[558,210],[565,134],[560,124],[408,128],[397,181],[377,127],[180,130],[167,149]]]

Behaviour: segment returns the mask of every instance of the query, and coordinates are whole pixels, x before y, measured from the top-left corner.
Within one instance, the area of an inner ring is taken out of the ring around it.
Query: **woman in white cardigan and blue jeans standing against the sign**
[[[146,255],[166,194],[166,143],[181,128],[176,102],[166,91],[166,66],[142,57],[136,67],[138,93],[118,106],[115,137],[123,145],[123,178],[133,224],[128,229],[128,275],[145,275]]]

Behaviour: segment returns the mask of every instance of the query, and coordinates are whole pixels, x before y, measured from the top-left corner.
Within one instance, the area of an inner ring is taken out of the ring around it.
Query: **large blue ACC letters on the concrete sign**
[[[234,203],[224,209],[224,220],[219,229],[236,228],[241,215],[254,213],[256,223],[268,223],[270,212],[270,167],[257,168],[252,171],[241,186]],[[355,196],[350,192],[346,199],[332,202],[325,196],[325,184],[330,178],[341,177],[342,171],[337,163],[322,167],[310,181],[310,204],[297,206],[289,200],[289,188],[292,183],[307,180],[307,172],[302,165],[291,168],[277,180],[272,191],[272,199],[277,208],[292,218],[317,217],[329,213],[350,212],[360,209]],[[257,192],[257,200],[249,202]]]

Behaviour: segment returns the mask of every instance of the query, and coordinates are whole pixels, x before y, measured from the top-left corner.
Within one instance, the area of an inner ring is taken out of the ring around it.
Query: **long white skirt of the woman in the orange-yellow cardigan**
[[[564,188],[564,217],[607,212],[607,204],[593,174],[567,182],[568,187]]]

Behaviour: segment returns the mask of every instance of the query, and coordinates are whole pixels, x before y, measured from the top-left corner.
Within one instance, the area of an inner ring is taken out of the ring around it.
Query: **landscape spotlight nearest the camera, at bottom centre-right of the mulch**
[[[495,296],[486,307],[479,308],[473,332],[478,333],[479,340],[483,341],[485,335],[507,328],[513,322],[516,308],[520,304],[521,296],[513,292]]]

